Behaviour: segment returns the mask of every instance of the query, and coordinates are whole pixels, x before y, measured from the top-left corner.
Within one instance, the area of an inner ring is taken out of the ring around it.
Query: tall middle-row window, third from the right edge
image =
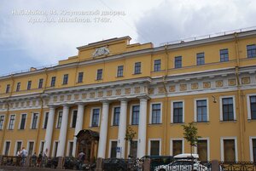
[[[197,122],[207,122],[207,100],[196,100]]]

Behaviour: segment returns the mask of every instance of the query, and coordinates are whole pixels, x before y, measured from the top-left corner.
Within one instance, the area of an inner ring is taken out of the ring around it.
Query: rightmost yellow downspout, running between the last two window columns
[[[237,80],[237,97],[238,97],[238,108],[239,108],[239,128],[240,128],[240,137],[241,137],[241,161],[244,160],[244,148],[243,148],[243,132],[245,130],[244,118],[243,118],[243,92],[241,89],[240,77],[239,77],[239,48],[238,48],[238,40],[237,33],[235,32],[235,41],[236,41],[236,80]]]

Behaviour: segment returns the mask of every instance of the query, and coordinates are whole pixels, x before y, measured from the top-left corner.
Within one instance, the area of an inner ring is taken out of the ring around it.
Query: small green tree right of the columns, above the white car
[[[189,142],[190,145],[190,153],[192,157],[192,147],[197,145],[197,141],[201,136],[197,135],[197,128],[195,127],[195,124],[189,123],[189,125],[182,125],[184,130],[184,139]]]

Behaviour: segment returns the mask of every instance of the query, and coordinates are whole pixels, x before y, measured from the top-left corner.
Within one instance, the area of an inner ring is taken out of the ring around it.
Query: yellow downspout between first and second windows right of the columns
[[[168,75],[168,52],[167,52],[167,45],[165,47],[165,52],[166,52],[166,74],[165,76],[163,76],[163,85],[164,85],[164,88],[165,88],[165,105],[166,105],[166,112],[165,112],[165,120],[164,120],[164,145],[163,145],[163,151],[164,151],[164,155],[167,154],[167,151],[166,151],[166,145],[167,145],[167,126],[168,126],[168,121],[167,121],[167,114],[168,114],[168,92],[167,92],[167,88],[166,88],[166,77]]]

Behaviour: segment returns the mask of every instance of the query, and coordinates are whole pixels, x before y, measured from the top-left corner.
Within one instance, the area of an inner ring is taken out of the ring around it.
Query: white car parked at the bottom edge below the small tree
[[[208,171],[209,169],[198,161],[198,154],[179,154],[175,161],[154,168],[154,171]]]

